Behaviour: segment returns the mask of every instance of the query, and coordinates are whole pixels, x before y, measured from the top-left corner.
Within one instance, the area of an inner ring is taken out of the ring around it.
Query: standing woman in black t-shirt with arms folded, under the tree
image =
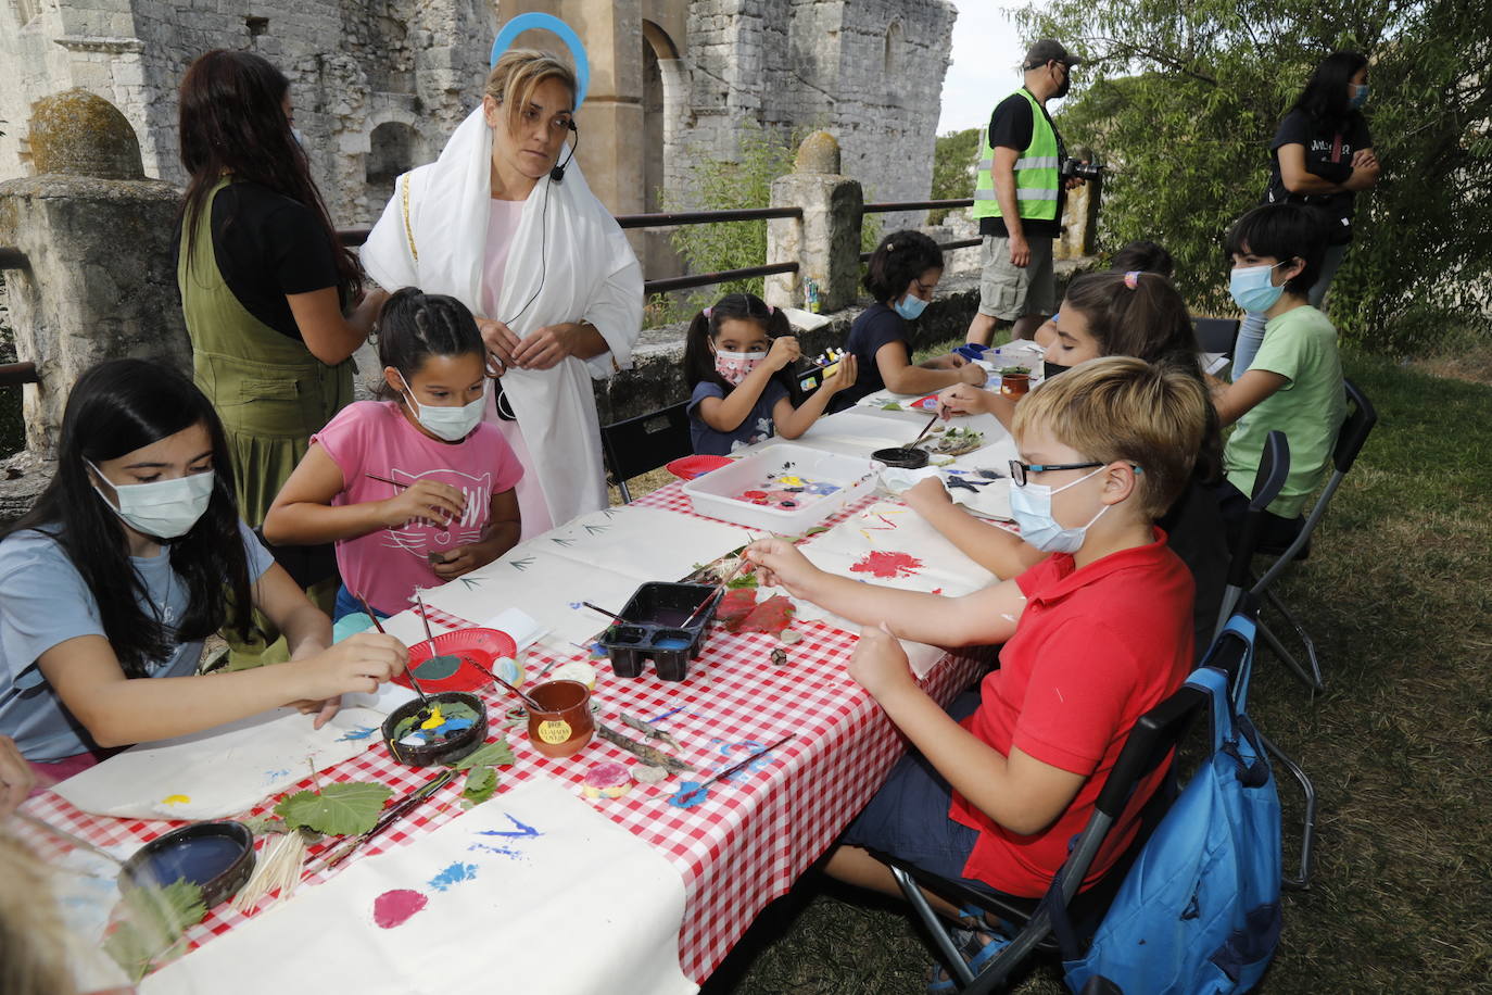
[[[1334,52],[1311,73],[1270,145],[1274,167],[1264,201],[1316,207],[1326,237],[1320,276],[1307,294],[1311,307],[1320,307],[1352,242],[1356,192],[1379,182],[1379,160],[1361,110],[1367,98],[1367,57]],[[1264,315],[1250,313],[1238,331],[1234,379],[1247,371],[1261,342]]]

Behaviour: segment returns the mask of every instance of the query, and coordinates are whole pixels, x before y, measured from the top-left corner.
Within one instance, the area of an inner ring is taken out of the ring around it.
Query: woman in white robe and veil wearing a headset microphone
[[[565,143],[574,94],[554,55],[507,51],[482,106],[439,160],[398,178],[363,246],[383,288],[451,294],[477,316],[488,418],[524,462],[524,539],[606,507],[591,379],[631,367],[642,330],[642,267]]]

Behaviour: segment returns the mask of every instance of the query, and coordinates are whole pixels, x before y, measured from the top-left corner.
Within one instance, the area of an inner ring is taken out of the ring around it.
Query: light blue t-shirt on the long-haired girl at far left
[[[275,562],[243,522],[239,536],[249,558],[249,579]],[[186,610],[188,594],[172,570],[169,547],[130,562],[145,582],[146,615],[167,627]],[[79,635],[104,635],[98,603],[67,552],[48,536],[27,530],[0,543],[0,734],[31,761],[58,761],[94,749],[88,729],[46,683],[36,661]],[[201,658],[201,640],[176,643],[164,659],[146,665],[151,677],[184,677]]]

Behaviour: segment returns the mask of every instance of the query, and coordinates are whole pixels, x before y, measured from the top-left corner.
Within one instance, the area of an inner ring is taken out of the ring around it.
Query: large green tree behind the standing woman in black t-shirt
[[[1383,176],[1359,194],[1332,319],[1374,348],[1420,352],[1492,304],[1492,18],[1464,0],[1050,0],[1022,30],[1088,60],[1059,115],[1113,169],[1101,234],[1155,239],[1203,309],[1231,309],[1222,236],[1259,203],[1270,140],[1316,63],[1367,52]]]

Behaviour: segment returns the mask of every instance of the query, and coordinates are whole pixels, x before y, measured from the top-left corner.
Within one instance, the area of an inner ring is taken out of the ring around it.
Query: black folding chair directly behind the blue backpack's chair
[[[1223,628],[1234,613],[1247,612],[1252,616],[1258,615],[1258,600],[1255,594],[1258,588],[1252,583],[1250,562],[1253,561],[1253,553],[1258,549],[1259,527],[1264,519],[1264,510],[1271,501],[1274,501],[1276,497],[1279,497],[1280,488],[1285,486],[1285,479],[1289,476],[1289,471],[1291,449],[1285,439],[1285,433],[1271,431],[1264,440],[1264,455],[1259,459],[1259,471],[1253,477],[1253,494],[1249,495],[1249,510],[1243,519],[1238,544],[1234,547],[1232,559],[1228,564],[1228,586],[1222,597],[1222,613],[1217,616],[1217,630],[1213,633],[1214,647],[1217,641],[1225,637]],[[1274,638],[1268,634],[1268,628],[1262,621],[1256,619],[1255,625],[1259,635],[1265,640]],[[1288,662],[1294,664],[1294,661]],[[1304,677],[1300,665],[1294,665],[1295,671]],[[1311,850],[1316,843],[1316,785],[1311,783],[1306,770],[1288,756],[1285,750],[1276,746],[1274,741],[1262,731],[1259,731],[1259,743],[1262,743],[1264,749],[1267,749],[1270,755],[1291,773],[1295,783],[1301,786],[1301,795],[1304,797],[1304,814],[1301,816],[1300,873],[1295,877],[1285,877],[1283,883],[1291,888],[1307,888],[1310,885]]]

